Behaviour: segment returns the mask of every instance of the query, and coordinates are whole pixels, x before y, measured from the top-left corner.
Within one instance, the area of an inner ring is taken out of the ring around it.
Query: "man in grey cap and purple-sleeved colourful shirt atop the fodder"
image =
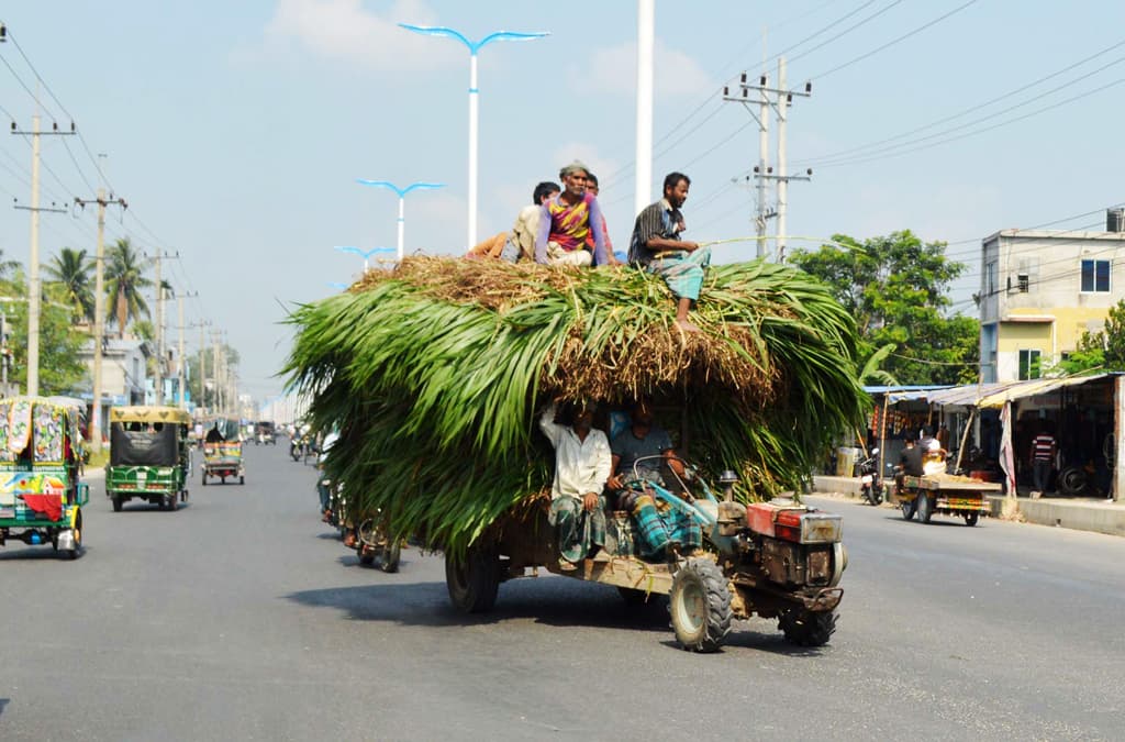
[[[609,262],[602,207],[586,193],[590,168],[575,160],[559,170],[562,193],[543,204],[536,235],[536,262],[562,266],[603,266]],[[594,252],[586,250],[593,235]]]

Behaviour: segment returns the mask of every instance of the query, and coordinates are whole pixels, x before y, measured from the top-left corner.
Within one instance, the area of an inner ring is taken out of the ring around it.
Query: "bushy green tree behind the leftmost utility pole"
[[[27,281],[21,271],[11,279],[0,279],[0,292],[25,301],[4,305],[8,343],[12,352],[9,382],[27,386]],[[80,351],[90,336],[74,329],[76,310],[58,285],[44,287],[45,301],[39,313],[39,393],[73,394],[89,388],[87,366]]]

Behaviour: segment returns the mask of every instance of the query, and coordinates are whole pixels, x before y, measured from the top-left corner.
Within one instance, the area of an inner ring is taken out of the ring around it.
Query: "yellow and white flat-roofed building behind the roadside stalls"
[[[1125,296],[1125,213],[1106,232],[1002,230],[981,245],[981,377],[1037,378]]]

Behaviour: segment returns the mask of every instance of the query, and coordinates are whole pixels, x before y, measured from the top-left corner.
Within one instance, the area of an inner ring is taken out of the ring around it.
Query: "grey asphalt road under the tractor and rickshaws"
[[[0,551],[0,739],[1123,739],[1125,540],[818,500],[845,517],[839,628],[773,622],[721,653],[547,576],[448,605],[442,562],[361,567],[310,466],[251,446],[246,484],[114,513],[78,562]]]

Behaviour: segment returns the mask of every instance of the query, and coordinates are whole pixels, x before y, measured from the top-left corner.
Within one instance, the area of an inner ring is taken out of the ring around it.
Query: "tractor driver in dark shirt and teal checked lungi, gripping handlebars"
[[[684,465],[676,458],[664,428],[652,423],[652,410],[648,402],[637,402],[630,412],[631,424],[613,439],[613,452],[610,480],[606,486],[615,493],[616,507],[628,511],[637,524],[641,538],[641,554],[658,556],[666,549],[680,548],[692,553],[703,545],[703,533],[700,525],[691,516],[673,509],[663,500],[657,500],[654,491],[646,484],[638,491],[627,488],[633,480],[633,468],[641,480],[664,485],[660,476],[660,465],[667,464],[678,476],[684,475]],[[648,456],[660,456],[659,459]]]

